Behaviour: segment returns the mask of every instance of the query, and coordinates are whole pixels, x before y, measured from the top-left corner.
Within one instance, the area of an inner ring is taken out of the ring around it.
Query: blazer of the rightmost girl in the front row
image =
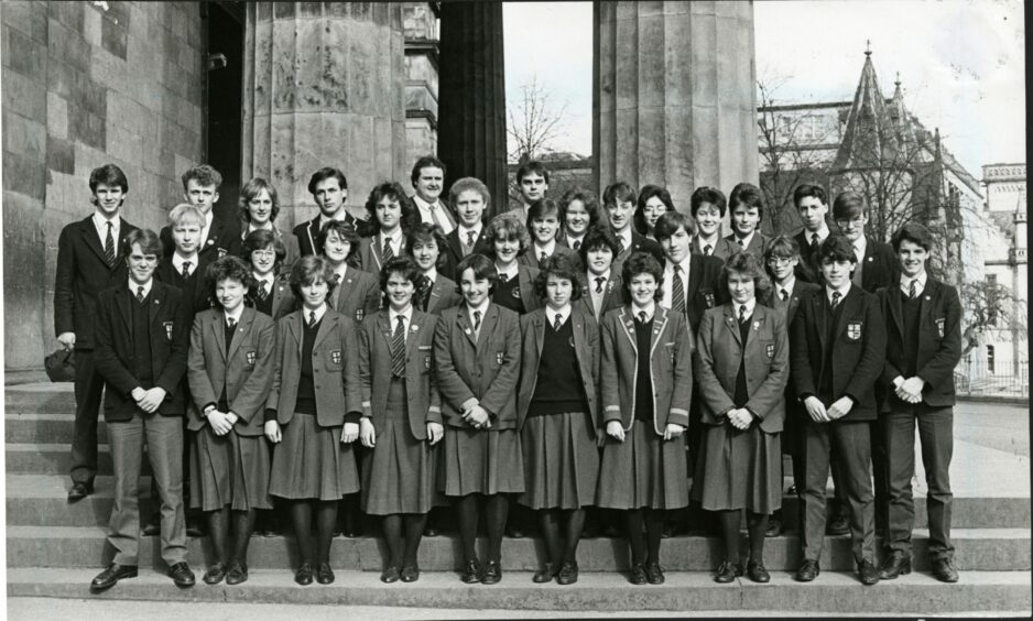
[[[707,310],[696,337],[696,385],[703,422],[720,425],[735,407],[739,361],[744,361],[744,407],[760,420],[760,428],[779,433],[785,423],[785,385],[790,380],[789,334],[782,313],[757,304],[743,351],[739,319],[731,303]]]

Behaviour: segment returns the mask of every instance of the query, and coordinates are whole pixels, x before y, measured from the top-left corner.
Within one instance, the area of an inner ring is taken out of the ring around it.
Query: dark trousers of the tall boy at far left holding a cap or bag
[[[75,350],[75,431],[72,436],[72,482],[93,484],[97,476],[97,417],[104,378],[94,366],[93,349]]]

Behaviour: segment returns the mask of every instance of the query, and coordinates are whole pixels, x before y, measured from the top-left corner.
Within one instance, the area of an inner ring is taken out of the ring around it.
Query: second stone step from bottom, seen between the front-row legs
[[[105,544],[104,527],[74,526],[8,526],[7,554],[9,567],[96,567],[109,563],[113,551]],[[955,529],[955,562],[961,571],[1030,570],[1030,531],[1027,529]],[[749,544],[741,533],[743,554]],[[916,570],[927,570],[928,532],[916,531],[913,537]],[[877,546],[881,544],[877,541]],[[142,537],[140,564],[152,566],[160,562],[159,537]],[[487,541],[479,541],[481,552]],[[207,537],[188,541],[191,558],[197,565],[210,562],[211,549]],[[380,571],[385,555],[380,537],[337,537],[331,546],[330,562],[335,567]],[[503,568],[519,571],[534,570],[544,558],[541,540],[505,538],[502,542]],[[717,537],[677,536],[664,540],[661,558],[671,571],[711,570],[724,558],[724,548]],[[286,569],[297,562],[293,537],[253,536],[248,553],[249,565],[261,569]],[[424,537],[420,546],[420,566],[428,571],[458,569],[461,551],[453,534]],[[800,541],[793,535],[769,538],[764,544],[764,562],[772,571],[792,571],[802,563]],[[578,546],[578,565],[584,571],[623,571],[630,567],[627,541],[623,538],[583,540]],[[849,571],[855,562],[847,536],[826,537],[820,559],[824,568]]]

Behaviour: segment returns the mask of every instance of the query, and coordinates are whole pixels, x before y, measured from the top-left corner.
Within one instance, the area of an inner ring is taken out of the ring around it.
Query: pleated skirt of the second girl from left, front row
[[[294,414],[281,427],[273,449],[269,493],[286,499],[340,500],[359,491],[351,445],[341,444],[341,427],[322,427],[313,414]]]

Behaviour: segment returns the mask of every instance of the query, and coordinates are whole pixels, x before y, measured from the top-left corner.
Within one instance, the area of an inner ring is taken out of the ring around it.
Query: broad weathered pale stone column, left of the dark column
[[[399,2],[248,2],[241,178],[280,194],[281,230],[313,217],[308,177],[337,166],[348,208],[405,184],[404,41]]]

